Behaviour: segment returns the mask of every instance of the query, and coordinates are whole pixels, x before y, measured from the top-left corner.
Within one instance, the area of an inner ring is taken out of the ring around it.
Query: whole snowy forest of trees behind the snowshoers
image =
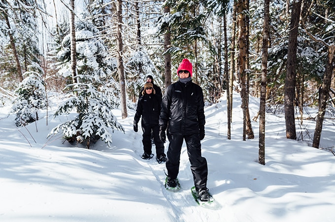
[[[243,140],[265,111],[285,111],[287,138],[302,139],[295,119],[319,107],[318,148],[325,113],[335,112],[334,40],[333,0],[1,0],[0,102],[24,126],[62,96],[56,115],[77,115],[50,135],[109,144],[124,131],[111,110],[126,118],[148,74],[164,92],[188,58],[207,104],[227,92],[232,111],[233,90],[241,94]],[[249,95],[261,98],[259,116],[249,116]]]

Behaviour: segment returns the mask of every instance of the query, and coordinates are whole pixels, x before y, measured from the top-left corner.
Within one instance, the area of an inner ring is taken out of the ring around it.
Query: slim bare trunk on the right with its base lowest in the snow
[[[262,76],[261,76],[261,98],[260,98],[260,126],[258,143],[258,162],[265,165],[265,106],[267,94],[268,74],[268,24],[270,0],[264,0],[264,24],[263,24],[263,51],[262,51]]]

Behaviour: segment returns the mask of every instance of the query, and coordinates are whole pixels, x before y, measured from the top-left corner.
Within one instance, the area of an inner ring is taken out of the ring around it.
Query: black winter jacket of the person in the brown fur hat
[[[138,123],[142,116],[142,125],[158,125],[162,99],[156,94],[144,94],[138,99],[134,121]]]

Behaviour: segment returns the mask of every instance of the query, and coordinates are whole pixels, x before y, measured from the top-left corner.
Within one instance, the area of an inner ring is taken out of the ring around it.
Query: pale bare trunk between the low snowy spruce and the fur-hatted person
[[[120,89],[121,89],[121,116],[122,119],[127,118],[127,101],[126,101],[126,84],[125,84],[125,68],[123,66],[123,42],[122,42],[122,0],[116,2],[116,61],[119,74]]]

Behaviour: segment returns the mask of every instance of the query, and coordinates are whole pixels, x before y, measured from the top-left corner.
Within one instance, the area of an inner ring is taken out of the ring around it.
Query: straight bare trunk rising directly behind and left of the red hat
[[[164,7],[164,13],[170,13],[170,7]],[[171,46],[171,33],[170,28],[167,26],[167,30],[164,34],[164,65],[165,65],[165,88],[171,85],[171,53],[168,52],[168,49]]]

